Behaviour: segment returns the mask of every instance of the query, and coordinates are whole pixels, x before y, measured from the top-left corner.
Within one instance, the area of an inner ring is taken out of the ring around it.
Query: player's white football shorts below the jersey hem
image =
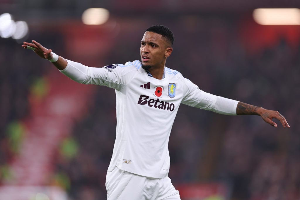
[[[115,167],[106,175],[107,200],[180,200],[171,179],[150,178]]]

